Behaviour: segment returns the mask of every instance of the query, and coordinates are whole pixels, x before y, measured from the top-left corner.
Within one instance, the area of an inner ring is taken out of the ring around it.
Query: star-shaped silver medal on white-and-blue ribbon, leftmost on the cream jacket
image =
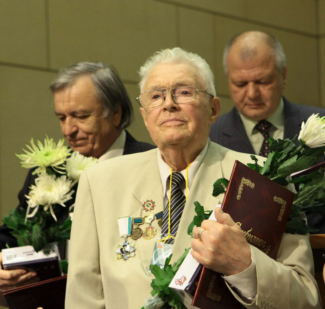
[[[117,224],[119,229],[119,236],[124,237],[122,244],[116,246],[116,260],[126,261],[129,257],[135,256],[135,242],[128,242],[127,236],[131,235],[131,217],[117,218]]]

